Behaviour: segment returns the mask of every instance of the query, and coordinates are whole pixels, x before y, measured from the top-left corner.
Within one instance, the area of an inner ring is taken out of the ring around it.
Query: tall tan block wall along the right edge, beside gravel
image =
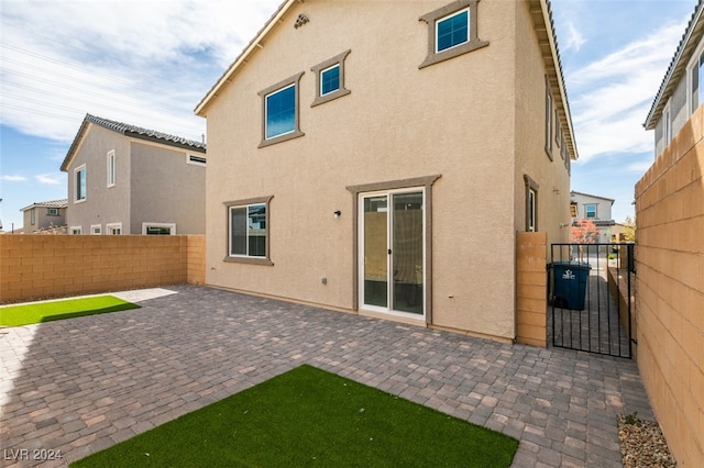
[[[679,467],[704,460],[704,108],[636,185],[638,367]]]

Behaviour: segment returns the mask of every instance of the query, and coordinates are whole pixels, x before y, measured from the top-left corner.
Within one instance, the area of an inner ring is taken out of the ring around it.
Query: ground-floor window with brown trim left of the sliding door
[[[268,254],[268,204],[272,197],[226,202],[228,255],[226,261],[273,265]]]

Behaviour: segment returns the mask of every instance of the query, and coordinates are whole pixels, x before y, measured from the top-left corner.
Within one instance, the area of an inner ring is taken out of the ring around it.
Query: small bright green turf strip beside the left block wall
[[[68,299],[65,301],[34,302],[0,308],[0,325],[19,326],[75,316],[139,309],[138,304],[113,296]]]

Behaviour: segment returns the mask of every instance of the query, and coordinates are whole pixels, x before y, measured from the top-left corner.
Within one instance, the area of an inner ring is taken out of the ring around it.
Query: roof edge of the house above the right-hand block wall
[[[674,56],[670,62],[668,71],[666,71],[664,78],[662,78],[660,89],[658,89],[658,94],[650,107],[646,122],[642,124],[646,130],[653,130],[656,127],[660,115],[662,115],[662,109],[668,103],[668,98],[674,92],[680,77],[685,73],[686,64],[690,62],[692,54],[694,54],[702,38],[702,34],[704,33],[704,21],[702,21],[703,11],[704,0],[698,0],[696,7],[694,7],[692,16],[690,16],[690,22],[684,30],[684,34],[682,34],[680,44],[674,52]]]

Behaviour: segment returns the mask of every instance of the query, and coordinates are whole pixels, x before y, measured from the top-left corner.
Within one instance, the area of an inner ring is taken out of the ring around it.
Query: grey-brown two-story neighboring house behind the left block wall
[[[69,234],[204,234],[206,145],[87,114],[61,169]]]

